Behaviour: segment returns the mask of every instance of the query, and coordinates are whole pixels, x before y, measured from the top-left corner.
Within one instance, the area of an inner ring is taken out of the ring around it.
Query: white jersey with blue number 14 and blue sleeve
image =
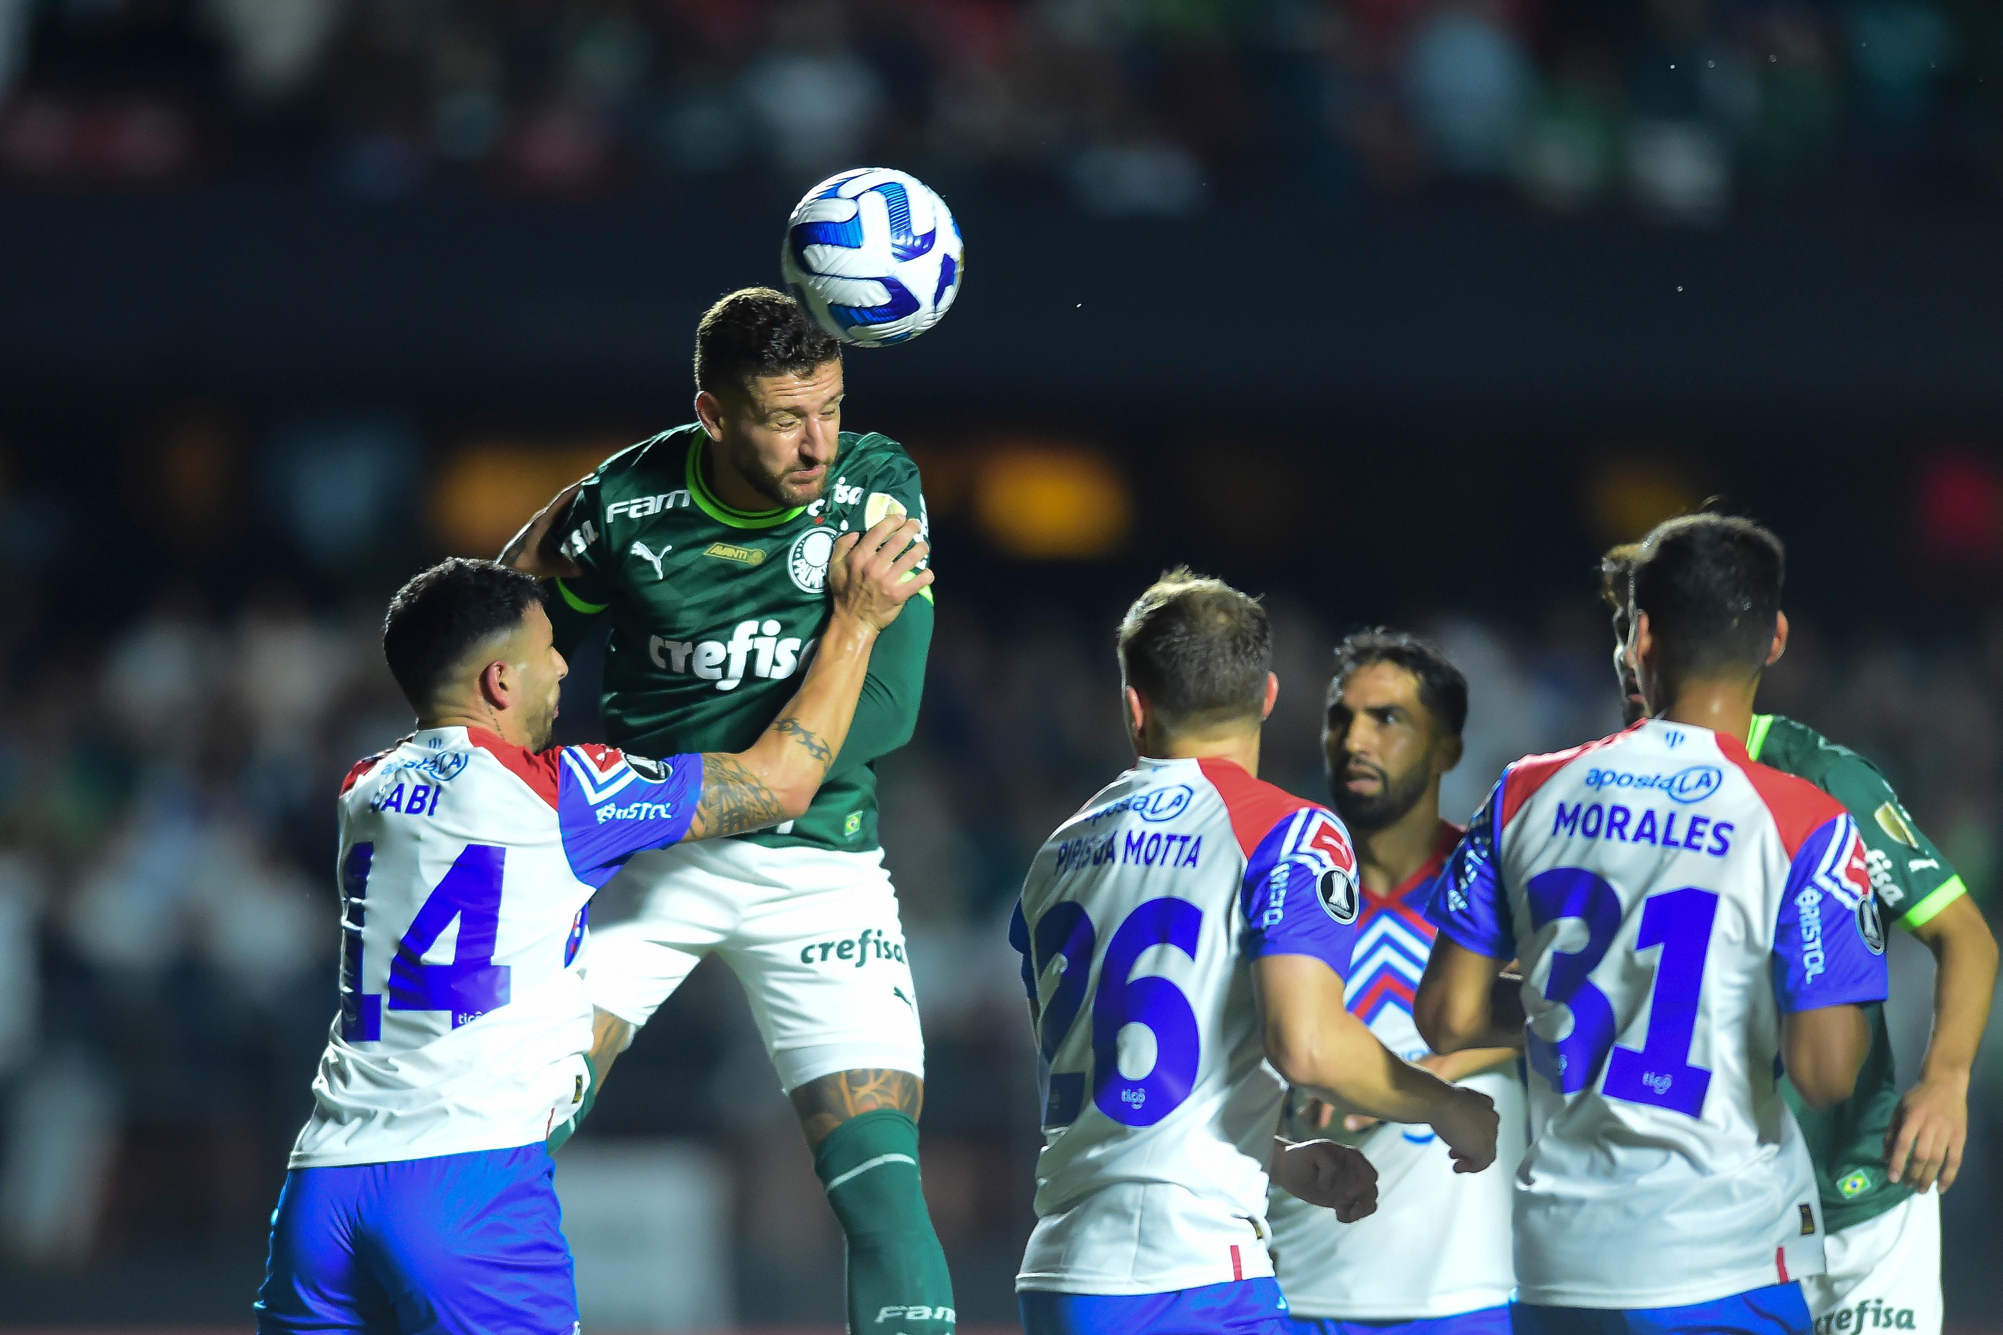
[[[290,1167],[513,1149],[585,1095],[585,905],[687,837],[703,759],[427,729],[341,793],[341,1015]]]

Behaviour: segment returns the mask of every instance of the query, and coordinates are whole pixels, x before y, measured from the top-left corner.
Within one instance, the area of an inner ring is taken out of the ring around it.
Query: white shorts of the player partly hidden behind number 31
[[[1825,1275],[1805,1275],[1801,1293],[1815,1335],[1919,1331],[1941,1335],[1941,1197],[1907,1197],[1823,1243]]]

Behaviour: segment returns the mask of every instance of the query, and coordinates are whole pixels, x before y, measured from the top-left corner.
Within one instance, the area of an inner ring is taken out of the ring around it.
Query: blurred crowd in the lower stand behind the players
[[[921,727],[881,765],[931,1067],[925,1183],[963,1311],[987,1319],[1008,1313],[1036,1149],[1004,925],[1034,847],[1128,763],[1112,658],[1128,582],[1012,604],[1006,580],[947,564]],[[1320,795],[1330,648],[1354,618],[1310,588],[1262,592],[1284,685],[1266,775]],[[214,596],[168,580],[130,620],[80,626],[28,582],[0,608],[0,1247],[16,1267],[202,1247],[248,1265],[308,1105],[335,1009],[332,795],[357,757],[409,729],[409,709],[381,664],[381,588],[316,608],[282,580]],[[1424,618],[1472,681],[1450,815],[1506,761],[1618,727],[1590,566],[1548,596],[1542,622]],[[2003,622],[1943,644],[1835,644],[1809,620],[1767,705],[1883,765],[1993,913]],[[585,650],[569,737],[595,727],[595,675]],[[1901,987],[1923,1009],[1923,971]],[[585,1139],[725,1147],[739,1313],[827,1319],[839,1235],[735,991],[699,971],[621,1061]],[[1917,1051],[1901,1057],[1911,1071]],[[1949,1237],[2003,1205],[2003,1043],[1975,1099]],[[206,1297],[224,1311],[238,1299]]]

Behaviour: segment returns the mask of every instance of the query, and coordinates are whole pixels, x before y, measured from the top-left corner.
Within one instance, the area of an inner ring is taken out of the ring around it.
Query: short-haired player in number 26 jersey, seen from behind
[[[1274,1139],[1282,1081],[1430,1123],[1460,1171],[1494,1159],[1496,1111],[1344,1009],[1356,851],[1256,777],[1266,608],[1170,570],[1120,624],[1120,675],[1140,761],[1050,837],[1010,923],[1046,1087],[1024,1329],[1280,1335],[1268,1175],[1342,1219],[1376,1205],[1358,1151]]]

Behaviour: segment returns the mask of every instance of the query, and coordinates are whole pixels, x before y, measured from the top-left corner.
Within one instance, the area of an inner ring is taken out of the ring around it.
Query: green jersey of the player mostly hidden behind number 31
[[[1921,927],[1967,893],[1961,877],[1933,841],[1919,833],[1899,805],[1899,795],[1871,761],[1781,715],[1753,717],[1747,755],[1799,775],[1843,803],[1865,841],[1871,889],[1887,923]],[[1831,1233],[1875,1219],[1913,1195],[1911,1187],[1891,1181],[1885,1169],[1885,1133],[1899,1107],[1899,1083],[1891,1037],[1885,1033],[1885,1007],[1867,1009],[1871,1053],[1849,1099],[1817,1113],[1801,1103],[1793,1085],[1783,1083],[1815,1161],[1823,1221]]]

